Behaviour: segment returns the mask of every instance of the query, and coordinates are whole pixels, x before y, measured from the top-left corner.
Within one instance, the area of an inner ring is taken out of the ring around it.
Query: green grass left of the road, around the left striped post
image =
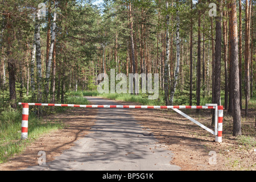
[[[89,104],[86,98],[68,96],[64,104]],[[42,107],[44,110],[51,110],[51,114],[60,113],[70,107]],[[54,109],[53,109],[54,108]],[[61,122],[46,122],[35,114],[36,107],[30,107],[28,119],[28,139],[21,140],[21,119],[22,106],[14,110],[11,107],[5,108],[0,113],[0,163],[6,162],[11,156],[20,154],[34,140],[47,134],[50,131],[63,129]]]

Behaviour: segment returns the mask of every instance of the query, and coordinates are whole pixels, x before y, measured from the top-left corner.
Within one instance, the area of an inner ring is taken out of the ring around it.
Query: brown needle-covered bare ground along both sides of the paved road
[[[126,105],[135,104],[115,102]],[[193,110],[183,111],[205,126],[211,127],[210,111],[201,110],[199,114]],[[232,137],[232,117],[225,117],[225,112],[222,143],[214,142],[212,134],[173,110],[131,109],[130,113],[145,130],[151,131],[159,143],[168,146],[174,154],[171,164],[180,166],[183,171],[256,170],[255,143],[247,141],[249,138],[246,137],[243,140]],[[256,110],[250,110],[249,113],[246,121],[242,119],[242,126],[246,128],[244,132],[254,133],[255,136]],[[96,115],[97,109],[74,108],[65,114],[46,117],[46,121],[62,121],[65,125],[64,129],[53,131],[35,140],[22,154],[15,155],[8,162],[0,164],[0,170],[17,170],[38,165],[39,151],[46,152],[47,162],[54,160],[57,155],[61,155],[62,151],[72,147],[75,140],[90,133]]]

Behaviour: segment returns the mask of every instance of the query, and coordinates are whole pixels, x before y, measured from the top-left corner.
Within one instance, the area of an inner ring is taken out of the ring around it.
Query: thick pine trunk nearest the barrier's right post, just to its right
[[[241,109],[240,109],[240,90],[239,90],[239,60],[238,60],[238,32],[237,32],[237,10],[236,1],[230,3],[230,48],[232,64],[232,90],[233,92],[233,136],[241,135]]]

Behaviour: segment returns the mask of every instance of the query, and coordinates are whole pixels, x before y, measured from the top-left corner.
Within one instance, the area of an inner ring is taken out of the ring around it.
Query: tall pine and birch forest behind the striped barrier
[[[64,103],[115,69],[158,73],[159,104],[223,105],[241,135],[241,117],[256,109],[255,3],[1,1],[0,113]]]

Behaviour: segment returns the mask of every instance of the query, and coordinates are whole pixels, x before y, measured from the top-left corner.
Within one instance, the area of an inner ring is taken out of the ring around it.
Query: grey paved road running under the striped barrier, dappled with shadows
[[[87,97],[96,105],[118,105],[114,101]],[[146,111],[146,110],[145,110]],[[77,140],[52,162],[26,170],[174,171],[172,153],[150,132],[142,130],[129,109],[99,108],[94,131]],[[46,154],[47,157],[47,154]]]

